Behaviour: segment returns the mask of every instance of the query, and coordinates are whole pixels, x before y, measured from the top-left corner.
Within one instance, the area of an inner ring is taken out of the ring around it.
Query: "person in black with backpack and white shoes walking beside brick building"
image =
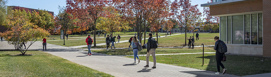
[[[221,63],[221,60],[223,59],[225,52],[227,52],[227,46],[226,44],[219,39],[219,37],[214,38],[216,43],[214,50],[216,50],[216,67],[217,67],[217,72],[215,74],[220,74],[220,66],[223,68],[223,73],[226,73],[226,70],[224,65]]]

